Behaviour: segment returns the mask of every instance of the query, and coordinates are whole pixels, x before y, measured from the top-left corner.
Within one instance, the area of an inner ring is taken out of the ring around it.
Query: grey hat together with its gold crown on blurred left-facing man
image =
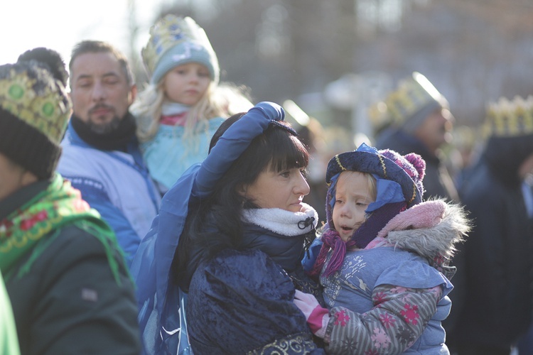
[[[374,126],[392,124],[409,133],[414,132],[431,112],[439,107],[448,109],[449,104],[431,82],[419,72],[413,72],[399,82],[383,102],[369,109]]]

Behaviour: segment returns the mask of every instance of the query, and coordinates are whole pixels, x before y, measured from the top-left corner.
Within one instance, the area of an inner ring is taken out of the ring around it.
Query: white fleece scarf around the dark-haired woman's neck
[[[312,231],[318,223],[318,214],[315,209],[305,203],[302,205],[301,212],[290,212],[281,208],[244,209],[242,220],[262,226],[282,236],[299,236]],[[311,218],[313,218],[312,222]],[[308,220],[307,224],[306,220]]]

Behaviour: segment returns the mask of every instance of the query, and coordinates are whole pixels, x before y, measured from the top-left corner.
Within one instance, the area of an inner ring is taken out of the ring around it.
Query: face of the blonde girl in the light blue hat
[[[167,72],[163,77],[163,90],[172,102],[193,106],[203,97],[210,82],[208,68],[192,62]]]

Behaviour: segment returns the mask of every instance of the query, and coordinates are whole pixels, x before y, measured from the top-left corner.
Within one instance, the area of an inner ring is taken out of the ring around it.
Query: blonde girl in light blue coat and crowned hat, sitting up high
[[[141,54],[150,81],[131,112],[144,159],[163,194],[208,155],[210,138],[235,100],[227,102],[228,90],[237,87],[219,87],[217,56],[190,17],[168,14],[157,21]],[[250,107],[248,102],[245,109]]]

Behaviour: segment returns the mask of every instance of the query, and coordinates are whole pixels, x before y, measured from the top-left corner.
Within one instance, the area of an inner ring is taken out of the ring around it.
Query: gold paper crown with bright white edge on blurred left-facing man
[[[384,117],[377,116],[376,121],[389,121],[389,123],[401,125],[420,109],[433,102],[437,102],[442,107],[448,107],[448,102],[434,85],[424,75],[413,72],[411,77],[400,81],[397,89],[384,99],[385,109],[376,107],[373,110],[374,112],[382,111],[384,115]]]

